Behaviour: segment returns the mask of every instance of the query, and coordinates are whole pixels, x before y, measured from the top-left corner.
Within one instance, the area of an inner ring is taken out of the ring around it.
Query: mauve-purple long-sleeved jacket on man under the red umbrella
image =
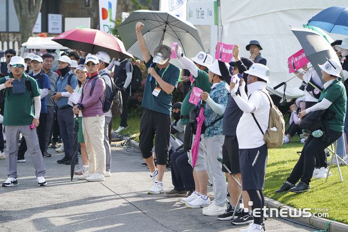
[[[92,90],[92,94],[89,96],[89,91],[92,87],[92,82],[95,77],[98,76],[98,73],[95,73],[92,77],[86,79],[84,84],[84,95],[80,97],[78,104],[81,106],[82,117],[95,117],[96,115],[103,116],[103,106],[101,100],[104,99],[105,93],[105,82],[102,80],[102,77],[98,76],[99,79],[95,81],[94,89]]]

